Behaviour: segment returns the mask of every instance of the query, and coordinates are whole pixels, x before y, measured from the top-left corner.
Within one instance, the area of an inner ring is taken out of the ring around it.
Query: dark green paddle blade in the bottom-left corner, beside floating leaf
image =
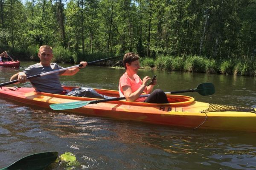
[[[0,170],[42,170],[54,162],[58,152],[35,153]]]

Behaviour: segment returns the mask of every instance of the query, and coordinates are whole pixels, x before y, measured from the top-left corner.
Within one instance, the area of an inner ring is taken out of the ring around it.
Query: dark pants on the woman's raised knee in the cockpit
[[[147,103],[169,103],[166,94],[161,89],[154,90],[144,102]]]

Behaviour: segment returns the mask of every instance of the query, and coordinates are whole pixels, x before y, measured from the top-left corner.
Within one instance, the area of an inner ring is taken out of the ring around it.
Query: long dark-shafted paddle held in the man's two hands
[[[105,59],[99,59],[99,60],[96,60],[96,61],[92,61],[92,62],[88,62],[87,64],[94,64],[96,62],[102,62],[102,61],[107,61],[107,60],[111,60],[111,59],[115,59],[115,58],[119,58],[121,56],[116,56],[116,57],[109,57],[109,58],[105,58]],[[53,74],[53,73],[57,73],[57,72],[60,72],[60,71],[65,71],[65,70],[69,70],[71,68],[77,68],[77,67],[81,67],[83,65],[74,65],[74,66],[71,66],[71,67],[67,67],[67,68],[62,68],[62,69],[59,69],[59,70],[54,70],[54,71],[49,71],[49,72],[46,72],[46,73],[41,73],[41,74],[36,74],[34,76],[29,76],[27,77],[27,79],[32,79],[32,78],[36,78],[36,77],[41,77],[41,76],[45,76],[45,75],[48,75],[48,74]],[[4,83],[1,83],[0,84],[0,87],[2,86],[5,86],[5,85],[11,85],[11,84],[14,84],[18,82],[18,80],[13,80],[13,81],[10,81],[10,82],[4,82]]]

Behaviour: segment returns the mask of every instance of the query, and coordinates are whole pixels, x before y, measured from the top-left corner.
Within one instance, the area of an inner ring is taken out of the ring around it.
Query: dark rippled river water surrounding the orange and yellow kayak
[[[0,68],[0,83],[23,68]],[[63,67],[71,65],[60,64]],[[88,66],[63,85],[118,89],[123,69]],[[184,93],[197,101],[256,107],[256,78],[230,75],[140,70],[143,78],[157,74],[157,88],[180,91],[212,82],[216,93]],[[14,86],[31,87],[30,83]],[[32,153],[71,152],[79,165],[55,162],[47,170],[253,170],[256,133],[191,130],[140,122],[81,116],[24,105],[0,98],[0,168]]]

